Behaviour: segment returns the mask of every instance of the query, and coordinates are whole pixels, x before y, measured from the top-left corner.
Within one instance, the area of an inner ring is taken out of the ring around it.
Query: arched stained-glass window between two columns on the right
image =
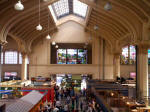
[[[135,64],[135,62],[136,62],[135,46],[129,45],[122,48],[121,64]]]

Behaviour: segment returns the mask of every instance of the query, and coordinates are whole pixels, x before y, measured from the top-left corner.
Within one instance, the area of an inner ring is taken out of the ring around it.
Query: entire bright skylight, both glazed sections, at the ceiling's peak
[[[69,14],[85,18],[88,6],[79,0],[59,0],[49,6],[49,8],[53,17],[55,16],[54,18],[56,19],[60,19]]]

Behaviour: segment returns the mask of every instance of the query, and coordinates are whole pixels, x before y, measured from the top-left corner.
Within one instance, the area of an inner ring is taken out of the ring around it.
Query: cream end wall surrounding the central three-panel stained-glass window
[[[29,75],[32,76],[49,76],[56,73],[70,73],[70,74],[92,74],[95,79],[102,79],[102,44],[101,38],[92,37],[89,40],[89,35],[85,32],[84,27],[80,24],[68,21],[58,27],[58,32],[52,35],[51,41],[56,43],[92,43],[92,64],[87,65],[57,65],[50,64],[50,42],[43,39],[39,40],[32,46],[32,53],[30,54]],[[106,48],[105,61],[105,77],[104,79],[113,79],[113,57]]]

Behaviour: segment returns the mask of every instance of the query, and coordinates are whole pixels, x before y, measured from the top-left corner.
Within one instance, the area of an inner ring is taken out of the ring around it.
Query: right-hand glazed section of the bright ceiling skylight
[[[73,13],[81,17],[86,16],[88,6],[79,0],[73,0]]]

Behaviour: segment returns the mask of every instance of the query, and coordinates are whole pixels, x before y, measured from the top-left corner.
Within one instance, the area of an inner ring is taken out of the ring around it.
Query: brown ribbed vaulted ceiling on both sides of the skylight
[[[22,0],[25,9],[14,10],[14,4],[18,0],[0,1],[0,40],[6,42],[7,35],[10,35],[24,49],[29,50],[28,44],[36,38],[46,36],[48,33],[48,14],[50,15],[50,32],[57,31],[57,26],[48,9],[48,6],[58,0],[41,0],[41,25],[42,31],[35,27],[39,24],[38,0]],[[110,44],[138,43],[150,41],[150,0],[109,0],[112,10],[104,10],[108,0],[80,0],[89,6],[85,29],[99,34]],[[94,31],[93,27],[99,28]],[[123,45],[123,44],[122,44]]]

